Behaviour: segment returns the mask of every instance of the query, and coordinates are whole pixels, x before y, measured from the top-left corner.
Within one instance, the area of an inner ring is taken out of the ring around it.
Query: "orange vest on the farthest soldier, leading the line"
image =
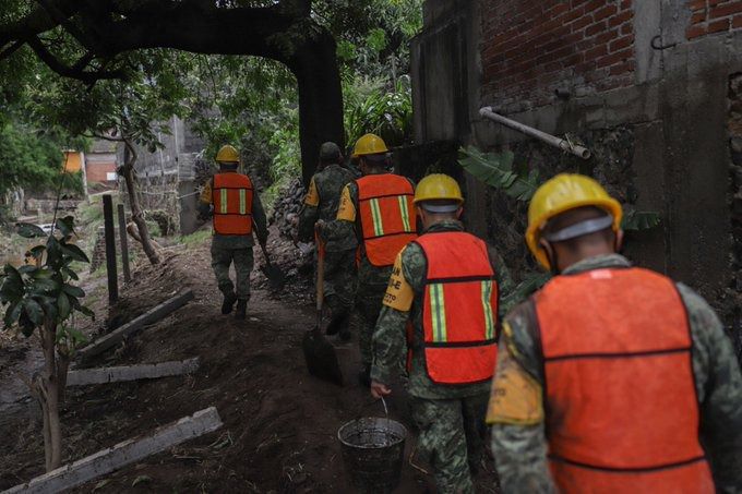
[[[252,233],[252,195],[250,178],[242,173],[214,176],[214,231],[225,236]]]

